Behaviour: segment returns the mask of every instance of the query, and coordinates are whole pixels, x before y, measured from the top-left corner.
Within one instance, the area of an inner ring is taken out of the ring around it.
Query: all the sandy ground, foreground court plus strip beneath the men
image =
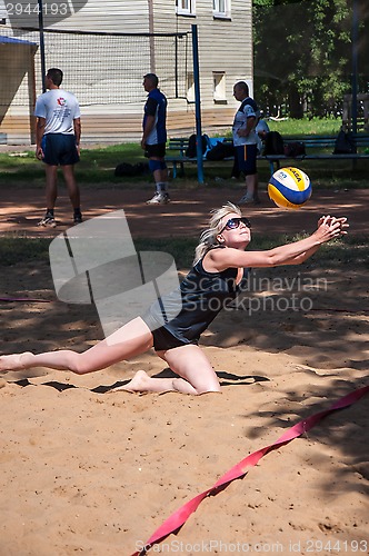
[[[133,237],[198,235],[209,209],[228,199],[225,190],[200,188],[190,198],[178,190],[158,210],[142,205],[147,193],[89,192],[84,214],[123,208]],[[263,198],[250,217],[257,229],[295,234],[320,214],[345,214],[361,232],[368,197],[317,191],[309,207],[288,214]],[[40,234],[42,201],[40,190],[10,191],[0,232]],[[61,200],[57,232],[69,211]],[[366,269],[312,262],[255,276],[261,278],[286,287],[246,294],[202,337],[220,395],[106,394],[141,368],[170,373],[153,353],[84,377],[44,368],[0,375],[1,556],[132,554],[248,454],[369,384]],[[287,309],[293,295],[298,310]],[[0,297],[24,296],[49,302],[0,302],[0,353],[82,350],[102,338],[92,307],[57,299],[47,265],[6,269]],[[367,554],[368,400],[265,456],[151,553]]]

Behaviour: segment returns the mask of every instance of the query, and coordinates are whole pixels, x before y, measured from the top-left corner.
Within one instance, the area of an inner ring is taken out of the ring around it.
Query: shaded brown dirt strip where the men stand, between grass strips
[[[110,188],[92,190],[83,188],[82,211],[84,219],[108,211],[123,209],[130,231],[136,237],[198,237],[206,226],[209,211],[225,201],[237,202],[242,189],[227,187],[176,189],[171,187],[172,202],[166,206],[148,206],[144,201],[152,189]],[[300,210],[282,210],[272,205],[261,187],[258,207],[248,207],[245,214],[252,219],[253,231],[262,234],[297,234],[311,231],[321,215],[342,215],[350,220],[350,234],[367,232],[369,189],[317,190]],[[44,212],[42,189],[1,190],[0,235],[12,232],[37,236],[56,236],[71,226],[71,208],[66,191],[60,191],[56,208],[59,226],[54,230],[38,228],[37,222]]]

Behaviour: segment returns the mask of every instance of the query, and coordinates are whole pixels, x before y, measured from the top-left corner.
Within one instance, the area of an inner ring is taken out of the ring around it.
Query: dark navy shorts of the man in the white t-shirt
[[[72,135],[47,133],[42,138],[42,161],[49,166],[71,166],[79,162],[76,138]]]

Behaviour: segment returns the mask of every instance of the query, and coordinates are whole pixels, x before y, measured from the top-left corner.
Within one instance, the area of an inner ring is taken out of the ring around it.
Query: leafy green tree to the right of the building
[[[367,0],[253,0],[255,96],[295,118],[337,113],[351,90],[352,1],[359,3],[359,88],[368,90]]]

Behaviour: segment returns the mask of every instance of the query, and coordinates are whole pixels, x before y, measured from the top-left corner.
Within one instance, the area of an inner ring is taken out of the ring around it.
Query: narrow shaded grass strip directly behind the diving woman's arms
[[[302,236],[257,236],[252,239],[252,249],[271,249],[281,244],[297,241]],[[46,238],[0,238],[0,267],[10,267],[30,261],[49,262],[49,245],[51,239]],[[193,259],[196,239],[138,239],[134,240],[137,251],[162,251],[172,255],[178,269],[190,268]],[[322,268],[339,268],[347,265],[369,268],[369,236],[347,236],[323,245],[311,261]],[[309,262],[307,264],[309,265]]]

